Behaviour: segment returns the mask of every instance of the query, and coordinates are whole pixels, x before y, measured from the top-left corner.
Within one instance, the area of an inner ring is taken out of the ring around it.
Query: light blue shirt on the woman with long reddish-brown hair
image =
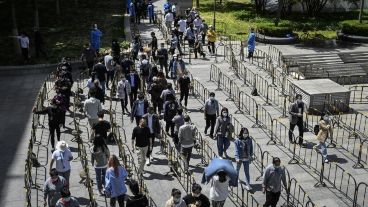
[[[122,167],[118,167],[119,176],[116,177],[113,168],[109,168],[106,171],[105,183],[106,187],[105,190],[111,193],[111,197],[115,198],[127,192],[127,188],[125,186],[125,179],[127,178],[127,171]]]

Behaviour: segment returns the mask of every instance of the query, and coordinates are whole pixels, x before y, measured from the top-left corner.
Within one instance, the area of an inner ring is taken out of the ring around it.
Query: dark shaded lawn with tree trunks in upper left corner
[[[9,1],[0,1],[0,65],[24,64],[15,54],[11,35],[11,9]],[[112,38],[124,40],[124,1],[121,0],[60,0],[61,15],[56,15],[55,0],[38,0],[40,32],[49,58],[36,59],[33,38],[32,0],[15,3],[18,31],[25,31],[30,37],[31,64],[55,63],[60,57],[80,57],[82,47],[89,42],[90,28],[94,23],[103,32],[102,50],[111,46]],[[28,63],[28,64],[30,64]]]

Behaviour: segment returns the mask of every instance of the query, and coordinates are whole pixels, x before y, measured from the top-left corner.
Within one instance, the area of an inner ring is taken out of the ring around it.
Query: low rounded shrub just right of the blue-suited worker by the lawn
[[[277,27],[273,23],[257,24],[257,29],[260,33],[271,37],[286,37],[288,34],[293,34],[293,29],[283,24]]]

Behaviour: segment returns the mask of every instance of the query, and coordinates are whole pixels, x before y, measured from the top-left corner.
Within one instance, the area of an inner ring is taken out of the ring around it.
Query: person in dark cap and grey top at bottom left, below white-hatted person
[[[56,202],[61,197],[61,190],[67,185],[66,180],[58,175],[55,168],[50,170],[50,177],[43,185],[43,200],[44,206],[49,204],[49,207],[55,207]]]

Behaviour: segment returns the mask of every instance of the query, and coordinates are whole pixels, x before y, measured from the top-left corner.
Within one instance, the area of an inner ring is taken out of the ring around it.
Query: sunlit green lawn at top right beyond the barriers
[[[193,1],[195,5],[196,1]],[[223,0],[223,5],[216,9],[216,30],[236,38],[246,38],[249,28],[272,25],[276,14],[256,14],[250,0]],[[214,0],[200,0],[201,16],[213,23]],[[336,38],[336,31],[342,27],[343,20],[358,19],[359,12],[324,13],[318,18],[307,18],[303,14],[294,13],[282,19],[280,26],[292,28],[295,33],[303,33],[308,30],[310,37],[322,36],[326,39]],[[368,17],[367,11],[365,17]],[[366,18],[367,19],[367,18]],[[365,19],[365,24],[367,20]]]

